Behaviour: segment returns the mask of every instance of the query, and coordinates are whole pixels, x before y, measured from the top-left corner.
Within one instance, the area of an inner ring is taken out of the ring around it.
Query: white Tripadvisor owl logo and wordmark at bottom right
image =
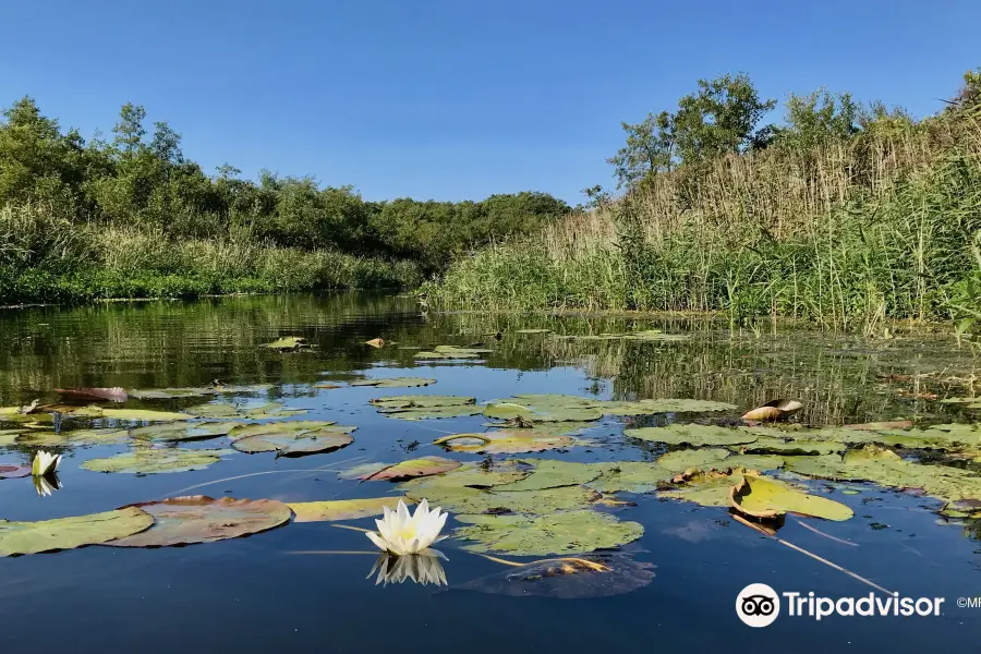
[[[938,616],[944,597],[901,597],[899,593],[861,597],[819,597],[813,592],[777,593],[765,583],[751,583],[736,597],[736,615],[750,627],[768,627],[780,615],[780,597],[791,618],[807,617],[821,621],[828,616]]]

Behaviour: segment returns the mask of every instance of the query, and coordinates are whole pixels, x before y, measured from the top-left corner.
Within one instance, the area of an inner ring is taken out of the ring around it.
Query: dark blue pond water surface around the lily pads
[[[536,329],[550,332],[520,331]],[[685,340],[560,338],[652,329]],[[238,402],[247,410],[279,402],[306,413],[259,416],[261,424],[323,420],[358,427],[347,447],[300,458],[244,453],[230,449],[225,436],[181,443],[186,449],[220,449],[220,460],[203,470],[169,474],[102,474],[81,467],[133,448],[172,447],[164,441],[51,440],[47,449],[63,455],[61,488],[41,496],[29,476],[0,480],[0,518],[10,521],[84,516],[193,494],[284,502],[397,497],[396,484],[338,473],[423,456],[484,460],[477,453],[446,451],[433,440],[485,432],[488,417],[399,420],[368,403],[387,396],[453,395],[480,404],[518,393],[566,393],[732,405],[711,412],[604,415],[584,425],[574,445],[494,455],[494,465],[509,459],[654,461],[665,450],[685,446],[626,438],[625,427],[737,425],[744,411],[776,398],[800,400],[803,409],[792,422],[818,426],[897,420],[929,426],[970,423],[977,414],[967,404],[941,401],[972,396],[976,372],[971,353],[942,335],[900,332],[891,340],[865,341],[768,323],[754,331],[730,330],[725,322],[667,318],[426,315],[410,299],[374,294],[7,310],[0,313],[0,335],[2,407],[34,399],[57,402],[56,388],[207,387],[220,379],[225,385],[269,386],[241,395],[131,398],[125,404],[101,405],[184,411]],[[284,336],[303,337],[313,347],[298,352],[259,347]],[[384,347],[364,344],[378,337]],[[474,346],[477,341],[484,346]],[[417,356],[436,346],[491,351],[463,360]],[[376,377],[436,382],[417,388],[350,385]],[[315,387],[324,383],[336,388]],[[53,421],[26,433],[140,426],[61,413]],[[23,420],[0,422],[4,427],[25,428]],[[0,465],[31,464],[38,447],[21,436],[11,432],[0,440]],[[959,449],[967,453],[913,453],[966,473],[981,471],[972,450]],[[844,504],[855,516],[828,521],[787,514],[777,541],[736,520],[724,506],[703,507],[657,493],[617,493],[630,504],[591,510],[639,523],[643,535],[625,544],[620,558],[609,559],[618,577],[605,583],[574,574],[506,581],[501,576],[522,569],[477,556],[465,548],[472,541],[452,537],[437,546],[448,559],[441,562],[448,586],[411,580],[376,585],[377,572],[366,578],[377,554],[372,543],[358,531],[337,528],[374,529],[372,518],[291,522],[249,537],[183,547],[96,545],[13,556],[0,558],[0,633],[8,643],[51,651],[105,650],[110,643],[142,652],[705,651],[739,642],[801,653],[845,646],[892,652],[977,647],[981,608],[958,608],[956,601],[981,595],[981,529],[970,520],[938,516],[944,502],[925,495],[861,481],[809,480],[780,470],[768,474]],[[445,533],[452,535],[458,526],[451,517]],[[310,552],[320,554],[302,554]],[[491,554],[516,562],[545,558],[493,547]],[[789,617],[785,608],[767,629],[751,629],[737,617],[737,595],[754,582],[804,596],[883,596],[828,564],[904,596],[946,602],[935,617],[832,616],[818,621]],[[580,596],[562,597],[569,594]]]

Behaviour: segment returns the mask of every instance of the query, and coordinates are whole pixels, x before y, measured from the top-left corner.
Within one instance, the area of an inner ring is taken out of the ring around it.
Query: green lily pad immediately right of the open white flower
[[[611,549],[640,538],[639,522],[623,522],[592,510],[564,511],[538,518],[523,516],[457,516],[469,526],[457,535],[474,541],[463,548],[514,556],[585,554]]]

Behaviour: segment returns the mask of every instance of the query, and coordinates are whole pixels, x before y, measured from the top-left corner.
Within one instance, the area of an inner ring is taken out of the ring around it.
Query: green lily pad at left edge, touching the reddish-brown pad
[[[153,523],[153,516],[136,507],[40,522],[0,520],[0,556],[97,545],[136,534]]]

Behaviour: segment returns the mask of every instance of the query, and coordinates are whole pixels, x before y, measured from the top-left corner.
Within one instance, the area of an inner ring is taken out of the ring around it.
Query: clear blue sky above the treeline
[[[0,16],[3,107],[32,95],[88,136],[133,101],[207,172],[312,174],[370,199],[574,204],[613,183],[620,121],[698,77],[922,116],[981,66],[978,0],[4,0]]]

